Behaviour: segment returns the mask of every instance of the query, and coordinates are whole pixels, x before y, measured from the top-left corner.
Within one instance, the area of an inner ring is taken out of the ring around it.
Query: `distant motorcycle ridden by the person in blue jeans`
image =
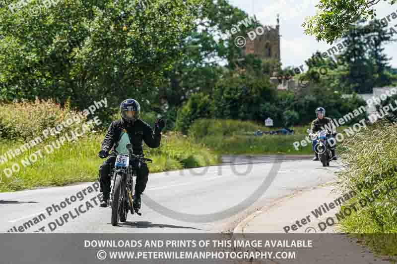
[[[325,130],[320,130],[317,131],[316,134],[311,134],[310,129],[308,129],[307,132],[309,133],[309,136],[313,141],[317,140],[317,143],[314,146],[314,151],[319,155],[319,159],[321,163],[323,163],[323,167],[329,166],[332,158],[332,154],[331,154],[331,146],[328,139],[334,137],[336,133],[335,132],[330,133]]]

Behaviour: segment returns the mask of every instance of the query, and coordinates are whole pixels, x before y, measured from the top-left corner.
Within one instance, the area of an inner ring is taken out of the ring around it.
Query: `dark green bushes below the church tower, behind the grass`
[[[194,100],[199,102],[199,95]],[[252,120],[258,123],[270,117],[274,126],[288,127],[311,122],[316,118],[314,110],[319,106],[327,109],[327,116],[338,119],[366,103],[357,94],[343,98],[340,92],[330,88],[313,87],[306,94],[276,91],[268,76],[229,72],[216,84],[213,98],[206,97],[206,105],[208,110],[201,111],[201,114],[195,113],[196,110],[188,110],[191,105],[184,105],[178,111],[179,124],[176,129],[186,133],[193,120],[203,117]],[[212,106],[213,115],[210,114],[212,110],[209,110]],[[365,114],[361,113],[349,123],[365,118]],[[185,126],[181,126],[184,123],[182,120],[185,120]]]

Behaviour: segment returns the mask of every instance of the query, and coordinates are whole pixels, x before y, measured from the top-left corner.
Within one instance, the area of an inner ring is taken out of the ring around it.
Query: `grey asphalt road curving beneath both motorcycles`
[[[256,208],[329,182],[333,171],[340,169],[335,162],[325,169],[308,157],[223,159],[218,166],[150,174],[142,196],[142,216],[128,214],[127,222],[119,226],[111,225],[110,208],[96,205],[99,192],[94,183],[0,193],[0,232],[227,232]],[[270,171],[276,172],[272,181]],[[260,186],[266,180],[270,185],[263,192]],[[255,191],[257,196],[248,201],[249,206],[236,208]],[[57,206],[61,210],[55,212]],[[211,220],[213,216],[219,219]]]

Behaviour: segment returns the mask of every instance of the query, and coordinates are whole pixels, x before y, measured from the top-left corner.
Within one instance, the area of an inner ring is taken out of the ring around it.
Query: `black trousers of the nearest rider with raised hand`
[[[99,168],[99,183],[100,183],[100,192],[103,193],[104,199],[109,199],[110,194],[110,173],[112,172],[113,167],[115,166],[116,157],[110,156],[107,158],[102,166]],[[135,194],[142,194],[146,188],[146,183],[149,176],[149,168],[145,163],[140,163],[138,167],[136,165],[136,184],[135,184]]]

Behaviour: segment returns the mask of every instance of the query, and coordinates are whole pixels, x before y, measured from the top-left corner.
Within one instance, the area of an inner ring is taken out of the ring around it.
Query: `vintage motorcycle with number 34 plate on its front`
[[[113,186],[110,202],[112,208],[112,225],[117,226],[119,220],[127,221],[128,211],[131,214],[141,215],[139,209],[133,208],[133,176],[136,177],[136,167],[139,162],[153,162],[150,158],[143,158],[132,154],[132,144],[127,144],[129,155],[117,155],[115,167],[112,173]]]

